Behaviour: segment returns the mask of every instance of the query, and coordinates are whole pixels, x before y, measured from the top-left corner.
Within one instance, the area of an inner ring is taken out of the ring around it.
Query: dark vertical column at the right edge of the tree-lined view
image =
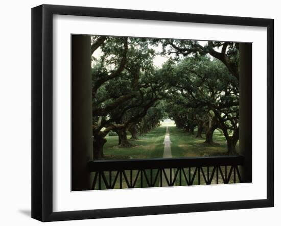
[[[240,43],[239,148],[245,157],[243,182],[252,182],[252,44]]]

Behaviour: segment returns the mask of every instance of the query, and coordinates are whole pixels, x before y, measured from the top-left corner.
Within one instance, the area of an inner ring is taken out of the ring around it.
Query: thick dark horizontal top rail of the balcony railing
[[[189,158],[157,158],[130,160],[96,160],[88,163],[89,171],[113,171],[129,169],[159,169],[205,166],[243,165],[243,156],[212,156]]]

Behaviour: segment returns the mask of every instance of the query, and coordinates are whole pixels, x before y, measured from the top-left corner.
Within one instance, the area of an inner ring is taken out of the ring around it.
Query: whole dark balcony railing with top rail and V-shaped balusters
[[[98,160],[88,163],[92,189],[241,183],[243,156]]]

